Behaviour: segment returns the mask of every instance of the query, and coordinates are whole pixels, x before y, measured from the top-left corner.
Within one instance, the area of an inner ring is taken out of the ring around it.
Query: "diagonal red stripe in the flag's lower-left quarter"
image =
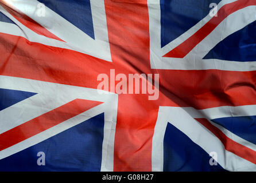
[[[59,108],[51,110],[48,113],[42,114],[33,120],[16,126],[15,128],[0,134],[0,150],[9,148],[27,138],[44,132],[45,130],[52,128],[69,118],[75,117],[88,109],[94,108],[99,104],[102,104],[102,102],[76,99]]]

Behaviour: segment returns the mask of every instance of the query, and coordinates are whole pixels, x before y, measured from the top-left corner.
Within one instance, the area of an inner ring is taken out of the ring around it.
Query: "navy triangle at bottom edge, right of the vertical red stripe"
[[[211,166],[210,159],[211,157],[205,150],[168,123],[164,136],[164,171],[226,171],[219,164]]]

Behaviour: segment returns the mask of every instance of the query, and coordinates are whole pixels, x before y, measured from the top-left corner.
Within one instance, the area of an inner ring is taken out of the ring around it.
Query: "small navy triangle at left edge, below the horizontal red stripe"
[[[0,110],[34,96],[36,93],[0,88]]]

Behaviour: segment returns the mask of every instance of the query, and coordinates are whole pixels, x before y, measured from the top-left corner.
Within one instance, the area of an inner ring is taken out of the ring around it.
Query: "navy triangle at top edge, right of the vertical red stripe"
[[[160,0],[161,8],[161,46],[196,25],[210,13],[211,3],[221,0]]]

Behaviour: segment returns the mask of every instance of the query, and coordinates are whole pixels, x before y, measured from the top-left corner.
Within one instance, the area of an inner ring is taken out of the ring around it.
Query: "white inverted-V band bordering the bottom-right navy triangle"
[[[164,162],[156,162],[163,160],[163,137],[168,122],[176,126],[181,132],[185,133],[208,154],[211,152],[218,153],[218,163],[224,169],[230,171],[256,171],[255,164],[225,150],[222,142],[184,109],[176,107],[160,107],[158,115],[160,116],[162,114],[169,114],[169,117],[167,121],[165,118],[159,117],[154,129],[152,147],[152,169],[154,171],[161,171],[163,169]]]

